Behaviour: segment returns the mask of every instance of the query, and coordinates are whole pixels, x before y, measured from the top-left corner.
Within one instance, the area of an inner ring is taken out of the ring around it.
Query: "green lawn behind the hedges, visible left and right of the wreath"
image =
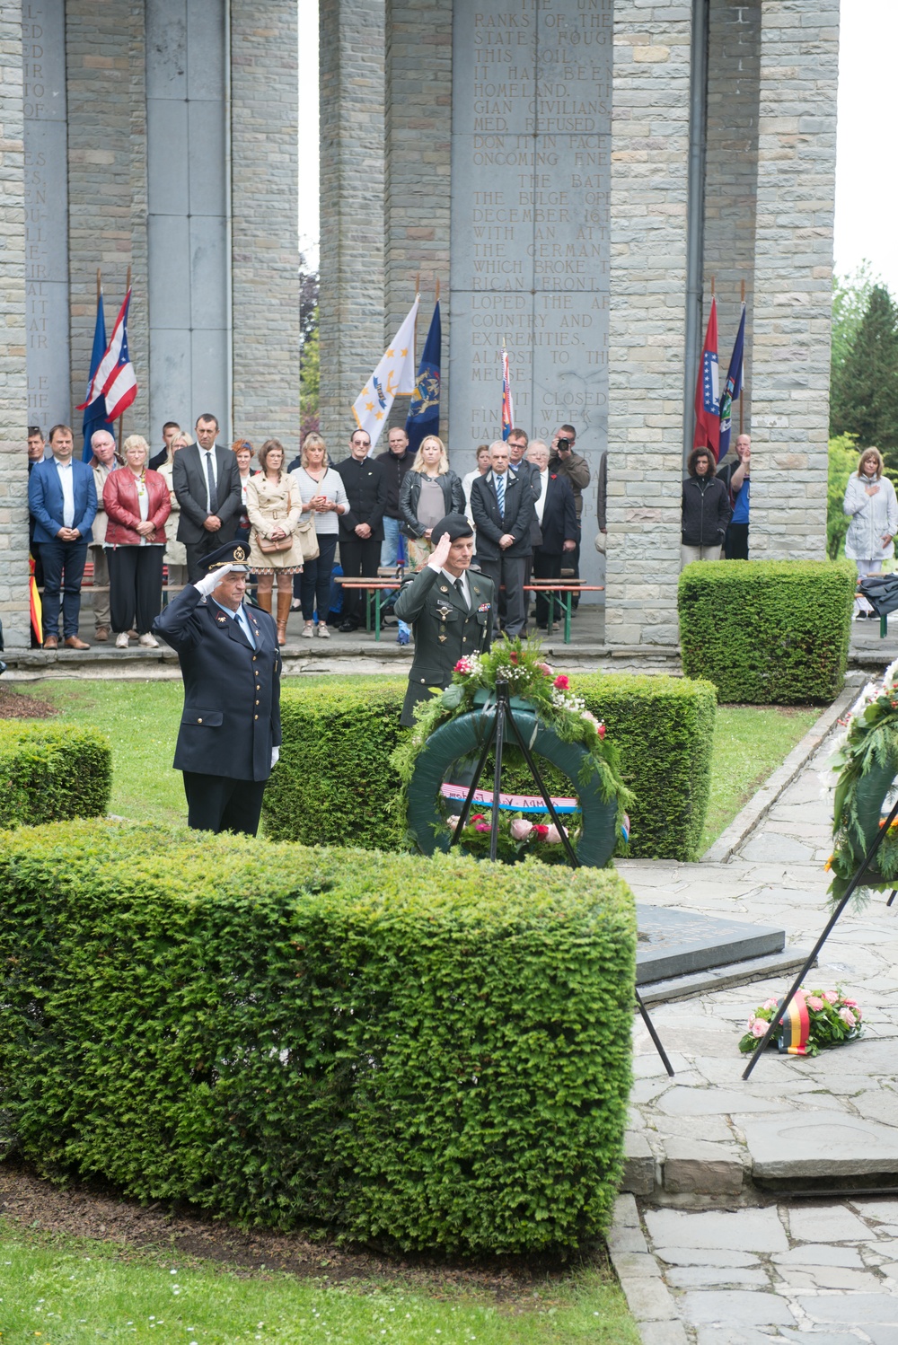
[[[285,685],[317,681],[286,678]],[[180,682],[39,682],[16,691],[50,701],[60,718],[104,729],[113,746],[112,811],[145,822],[184,822],[180,773],[172,771],[180,722]],[[711,802],[702,850],[733,820],[754,790],[789,755],[817,709],[722,705],[717,712]]]

